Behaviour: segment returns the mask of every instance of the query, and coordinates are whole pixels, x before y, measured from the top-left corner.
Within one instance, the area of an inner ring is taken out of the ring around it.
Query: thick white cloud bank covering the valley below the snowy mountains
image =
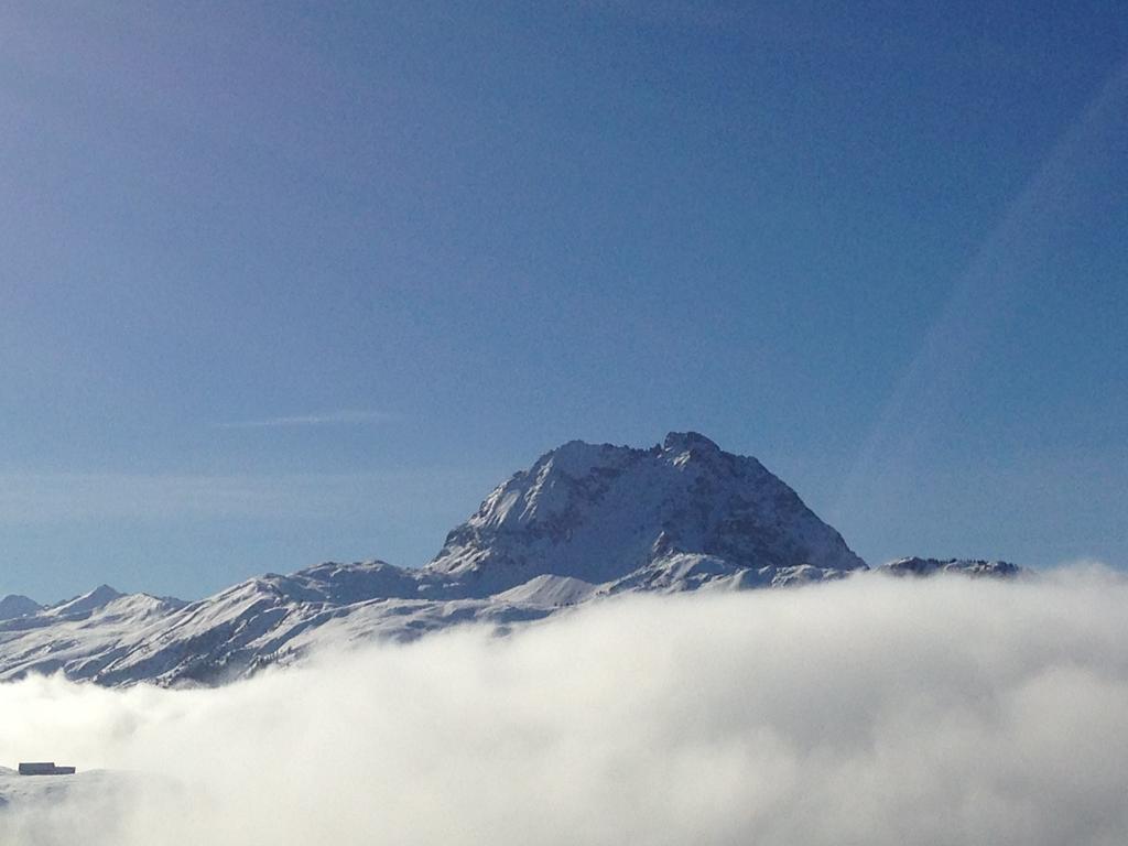
[[[0,841],[1121,846],[1126,610],[1101,571],[866,576],[611,601],[215,690],[26,680],[0,686],[10,763],[158,775],[14,802]]]

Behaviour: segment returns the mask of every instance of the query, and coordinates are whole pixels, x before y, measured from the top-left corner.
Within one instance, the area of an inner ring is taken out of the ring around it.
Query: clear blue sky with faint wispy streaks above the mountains
[[[1123,565],[1126,56],[1100,2],[7,5],[0,593],[420,564],[684,429],[871,563]]]

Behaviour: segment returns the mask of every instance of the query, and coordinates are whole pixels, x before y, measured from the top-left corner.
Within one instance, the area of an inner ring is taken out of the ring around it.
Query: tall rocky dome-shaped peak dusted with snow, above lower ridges
[[[730,569],[865,566],[755,458],[671,432],[652,449],[571,441],[545,453],[451,531],[428,570],[486,596],[541,574],[611,582],[672,553]]]

